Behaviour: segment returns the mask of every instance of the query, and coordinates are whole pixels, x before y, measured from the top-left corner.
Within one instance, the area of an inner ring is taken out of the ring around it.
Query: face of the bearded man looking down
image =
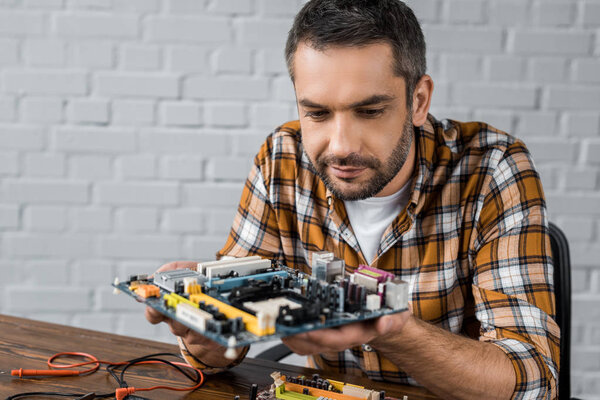
[[[390,45],[300,44],[294,76],[303,146],[329,190],[342,200],[399,190],[414,133]]]

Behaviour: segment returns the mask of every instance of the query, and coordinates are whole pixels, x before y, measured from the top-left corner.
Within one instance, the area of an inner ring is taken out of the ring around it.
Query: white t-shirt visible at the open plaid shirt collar
[[[350,225],[369,264],[375,259],[383,232],[408,203],[410,183],[389,196],[344,201]]]

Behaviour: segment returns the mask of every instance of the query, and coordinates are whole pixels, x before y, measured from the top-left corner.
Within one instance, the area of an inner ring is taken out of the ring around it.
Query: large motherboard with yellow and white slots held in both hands
[[[347,273],[329,252],[314,253],[311,267],[305,274],[249,256],[113,286],[230,349],[407,309],[407,283],[387,271],[361,265]]]

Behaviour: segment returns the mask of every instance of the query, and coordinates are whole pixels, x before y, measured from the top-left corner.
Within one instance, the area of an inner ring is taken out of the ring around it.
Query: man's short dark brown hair
[[[425,38],[413,11],[399,0],[310,0],[298,12],[288,34],[285,58],[292,81],[298,44],[316,49],[389,43],[394,72],[406,81],[410,105],[425,74]]]

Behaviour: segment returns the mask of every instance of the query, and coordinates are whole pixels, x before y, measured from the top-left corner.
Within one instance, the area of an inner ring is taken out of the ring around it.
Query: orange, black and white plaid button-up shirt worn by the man
[[[514,398],[555,397],[560,332],[544,195],[529,152],[483,123],[429,116],[414,131],[412,195],[370,265],[409,282],[415,317],[503,350],[516,372]],[[310,272],[312,253],[322,250],[343,258],[348,272],[367,264],[344,202],[318,178],[303,152],[300,124],[290,122],[256,156],[218,256],[258,254]],[[311,362],[416,383],[369,350]]]

